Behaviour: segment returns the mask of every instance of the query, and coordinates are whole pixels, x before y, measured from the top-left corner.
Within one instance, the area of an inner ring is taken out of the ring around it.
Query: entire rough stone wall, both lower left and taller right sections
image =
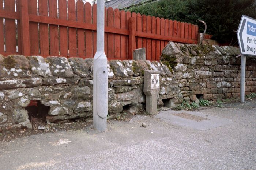
[[[183,100],[215,100],[239,96],[238,48],[170,42],[162,62],[108,62],[108,113],[145,108],[144,70],[161,72],[158,107]],[[245,94],[256,92],[256,61],[246,60]],[[91,118],[93,59],[10,55],[0,56],[0,131],[31,128],[30,106],[47,122]]]

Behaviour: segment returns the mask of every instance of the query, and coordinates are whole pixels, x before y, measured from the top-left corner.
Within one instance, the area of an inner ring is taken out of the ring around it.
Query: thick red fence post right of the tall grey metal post
[[[129,18],[129,48],[128,54],[129,59],[133,59],[133,50],[136,49],[136,42],[135,42],[135,20],[133,17]]]

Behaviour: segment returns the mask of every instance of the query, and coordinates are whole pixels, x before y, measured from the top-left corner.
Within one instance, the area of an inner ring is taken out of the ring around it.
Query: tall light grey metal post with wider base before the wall
[[[97,0],[97,51],[93,59],[93,126],[105,131],[108,114],[108,71],[104,52],[104,0]]]

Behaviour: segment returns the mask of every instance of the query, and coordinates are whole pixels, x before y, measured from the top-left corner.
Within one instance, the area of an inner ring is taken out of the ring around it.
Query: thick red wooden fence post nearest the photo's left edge
[[[25,56],[30,55],[30,38],[29,38],[29,9],[28,0],[19,0],[20,5],[20,31],[21,31],[21,49]]]

